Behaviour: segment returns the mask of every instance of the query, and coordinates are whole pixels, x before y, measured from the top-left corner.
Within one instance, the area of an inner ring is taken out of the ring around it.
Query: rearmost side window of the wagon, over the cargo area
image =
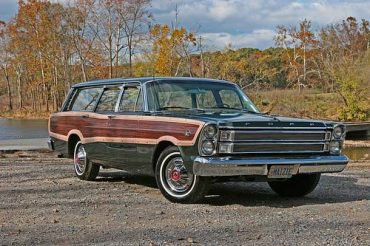
[[[84,88],[76,92],[71,111],[93,111],[103,88]]]

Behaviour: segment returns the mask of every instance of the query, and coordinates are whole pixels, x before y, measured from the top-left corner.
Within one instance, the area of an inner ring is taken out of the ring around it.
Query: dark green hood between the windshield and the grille
[[[174,115],[175,116],[175,115]],[[178,115],[177,115],[178,116]],[[267,114],[255,114],[247,112],[206,112],[197,114],[183,115],[183,117],[213,122],[220,127],[332,127],[331,122],[298,119],[283,116],[273,116]]]

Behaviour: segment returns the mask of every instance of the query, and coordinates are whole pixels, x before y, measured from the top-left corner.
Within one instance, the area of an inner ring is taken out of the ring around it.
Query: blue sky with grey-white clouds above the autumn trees
[[[68,0],[53,0],[67,2]],[[0,0],[0,19],[9,20],[18,0]],[[370,19],[370,0],[152,0],[156,23],[174,23],[178,9],[179,26],[196,31],[208,49],[273,47],[277,25],[312,21],[318,29],[348,16]]]

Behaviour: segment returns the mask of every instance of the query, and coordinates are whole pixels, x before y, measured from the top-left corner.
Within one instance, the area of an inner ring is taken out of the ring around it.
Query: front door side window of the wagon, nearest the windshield
[[[136,112],[143,110],[143,99],[141,90],[138,87],[127,87],[123,91],[118,111]]]

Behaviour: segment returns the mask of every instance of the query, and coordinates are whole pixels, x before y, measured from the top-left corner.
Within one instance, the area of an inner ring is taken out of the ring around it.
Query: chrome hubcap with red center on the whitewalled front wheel
[[[191,187],[194,175],[188,173],[181,157],[170,160],[165,170],[165,179],[171,190],[182,193]]]

